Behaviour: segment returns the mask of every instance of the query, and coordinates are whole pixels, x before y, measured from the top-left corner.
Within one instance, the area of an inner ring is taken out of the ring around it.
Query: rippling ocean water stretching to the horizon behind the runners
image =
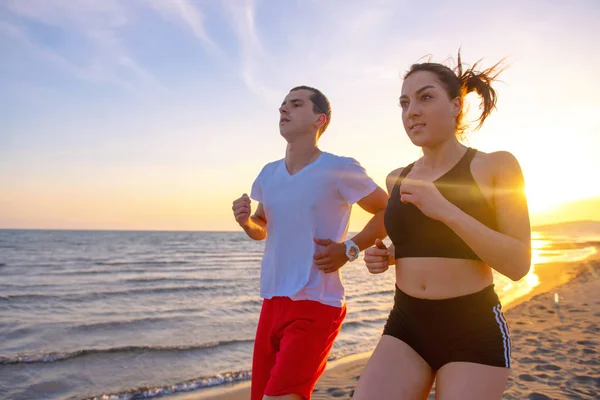
[[[583,260],[599,224],[548,228],[535,264]],[[0,230],[0,398],[151,399],[250,379],[264,242],[243,232]],[[393,269],[343,267],[348,315],[330,359],[370,351]]]

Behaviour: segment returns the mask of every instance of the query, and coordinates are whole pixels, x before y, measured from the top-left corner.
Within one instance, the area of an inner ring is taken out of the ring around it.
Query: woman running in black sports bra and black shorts
[[[413,65],[400,107],[423,156],[387,178],[381,241],[365,252],[371,273],[396,265],[394,307],[354,393],[355,400],[500,399],[510,368],[510,336],[492,269],[517,281],[531,261],[521,169],[508,152],[483,153],[459,138],[465,95],[481,98],[477,128],[496,105],[499,64],[456,72]]]

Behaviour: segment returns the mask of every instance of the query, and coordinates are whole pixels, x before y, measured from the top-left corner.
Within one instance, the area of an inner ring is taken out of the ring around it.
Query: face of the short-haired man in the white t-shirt
[[[279,132],[286,140],[302,135],[314,135],[325,122],[325,114],[315,113],[310,100],[312,92],[306,89],[288,93],[279,107]]]

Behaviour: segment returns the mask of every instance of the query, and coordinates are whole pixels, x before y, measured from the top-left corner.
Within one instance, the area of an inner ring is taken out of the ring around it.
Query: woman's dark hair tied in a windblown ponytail
[[[458,59],[456,67],[453,70],[445,65],[438,63],[421,63],[411,65],[408,72],[404,75],[404,79],[418,71],[429,71],[434,73],[446,89],[446,93],[450,99],[460,98],[464,100],[465,96],[471,92],[477,92],[481,97],[479,109],[481,115],[477,118],[478,121],[475,130],[478,130],[483,125],[483,121],[490,115],[492,110],[496,108],[496,91],[492,88],[492,82],[496,80],[498,75],[504,70],[500,60],[490,68],[478,71],[477,67],[481,60],[473,64],[472,67],[464,70],[462,60],[460,58],[460,50],[458,51]],[[464,102],[461,104],[461,110],[456,117],[456,132],[459,136],[464,136],[468,128],[468,124],[463,123]]]

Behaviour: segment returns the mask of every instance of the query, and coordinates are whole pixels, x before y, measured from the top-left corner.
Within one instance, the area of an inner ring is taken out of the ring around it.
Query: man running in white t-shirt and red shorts
[[[285,158],[267,164],[252,185],[258,202],[233,202],[236,221],[255,240],[266,238],[261,266],[262,310],[252,362],[252,400],[310,399],[346,315],[339,268],[386,236],[386,193],[356,160],[317,147],[331,117],[327,98],[299,86],[279,109]],[[352,204],[375,214],[345,240]]]

